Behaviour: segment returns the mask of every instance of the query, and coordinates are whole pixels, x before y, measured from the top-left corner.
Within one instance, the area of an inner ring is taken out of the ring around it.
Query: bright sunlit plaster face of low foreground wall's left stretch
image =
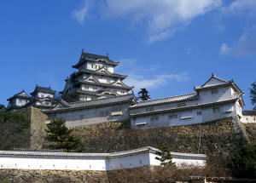
[[[106,160],[67,159],[67,158],[31,158],[0,157],[0,169],[73,169],[106,170]]]

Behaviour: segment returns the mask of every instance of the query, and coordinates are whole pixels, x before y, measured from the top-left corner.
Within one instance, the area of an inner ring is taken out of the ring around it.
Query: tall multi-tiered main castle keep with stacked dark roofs
[[[86,101],[127,94],[133,87],[123,83],[127,77],[114,73],[119,62],[109,56],[89,54],[82,51],[79,63],[73,66],[78,71],[66,79],[62,99]]]

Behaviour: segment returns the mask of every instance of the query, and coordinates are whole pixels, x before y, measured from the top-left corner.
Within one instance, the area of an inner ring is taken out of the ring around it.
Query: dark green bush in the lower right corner
[[[230,157],[228,167],[241,178],[256,178],[256,146],[245,145]]]

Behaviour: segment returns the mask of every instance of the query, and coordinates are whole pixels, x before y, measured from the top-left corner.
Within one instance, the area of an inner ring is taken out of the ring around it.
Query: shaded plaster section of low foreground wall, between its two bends
[[[115,157],[109,158],[108,170],[112,169],[132,169],[135,167],[141,167],[149,165],[149,152],[137,154],[129,157]]]

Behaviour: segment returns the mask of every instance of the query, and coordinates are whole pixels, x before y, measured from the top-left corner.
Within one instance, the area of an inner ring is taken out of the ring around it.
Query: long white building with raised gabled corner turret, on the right
[[[233,80],[212,77],[195,94],[146,100],[130,106],[132,129],[151,129],[206,123],[225,117],[242,117],[243,92]]]

